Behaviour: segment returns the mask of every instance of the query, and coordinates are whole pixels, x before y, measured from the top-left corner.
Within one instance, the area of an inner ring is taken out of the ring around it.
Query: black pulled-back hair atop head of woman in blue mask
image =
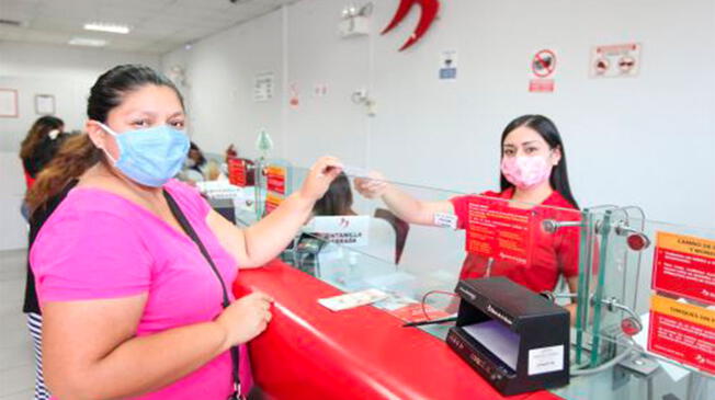
[[[183,98],[169,78],[150,67],[127,64],[112,68],[97,79],[87,102],[87,116],[105,123],[107,114],[122,103],[124,94],[145,84],[173,89],[183,107]]]

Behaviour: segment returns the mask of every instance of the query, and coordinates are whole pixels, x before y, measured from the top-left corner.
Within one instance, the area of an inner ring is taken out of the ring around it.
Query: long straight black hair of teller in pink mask
[[[552,175],[548,179],[548,182],[552,184],[552,187],[561,194],[566,201],[568,201],[574,207],[578,207],[578,203],[574,195],[571,194],[571,186],[568,183],[568,172],[566,170],[566,150],[564,149],[564,141],[561,140],[561,135],[558,133],[556,125],[543,115],[522,115],[514,121],[510,122],[509,125],[504,128],[503,134],[501,134],[501,155],[503,157],[504,152],[504,139],[512,130],[519,127],[529,127],[534,130],[541,137],[546,140],[551,149],[559,149],[561,152],[561,159],[558,161],[558,164],[552,170]],[[501,191],[513,187],[507,180],[503,173],[500,173],[500,184]]]

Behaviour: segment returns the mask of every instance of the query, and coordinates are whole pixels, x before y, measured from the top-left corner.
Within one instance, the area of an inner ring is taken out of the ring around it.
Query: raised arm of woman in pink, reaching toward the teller
[[[236,258],[239,267],[261,266],[275,258],[308,220],[313,205],[341,171],[332,157],[319,159],[308,172],[299,191],[290,195],[276,209],[257,224],[239,229],[215,212],[206,222],[222,245]]]

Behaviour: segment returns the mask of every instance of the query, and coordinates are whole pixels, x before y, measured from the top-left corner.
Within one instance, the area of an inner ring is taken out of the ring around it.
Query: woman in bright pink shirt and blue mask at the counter
[[[234,300],[230,284],[239,268],[285,248],[340,173],[338,160],[318,160],[299,191],[238,229],[171,179],[189,139],[181,94],[167,78],[148,67],[115,67],[92,87],[88,117],[84,139],[63,149],[27,196],[37,209],[78,180],[30,254],[52,392],[216,400],[247,393],[243,346],[271,320],[272,299],[254,293]]]

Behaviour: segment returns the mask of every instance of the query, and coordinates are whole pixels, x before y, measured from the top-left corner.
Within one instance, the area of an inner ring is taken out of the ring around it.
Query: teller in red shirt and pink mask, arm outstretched
[[[435,214],[454,214],[457,227],[465,229],[468,222],[469,196],[457,196],[441,202],[423,202],[385,182],[379,173],[373,179],[355,179],[355,188],[368,198],[382,197],[399,218],[419,225],[434,225]],[[496,197],[514,208],[545,208],[557,220],[578,217],[578,204],[571,194],[566,169],[566,151],[556,125],[543,115],[523,115],[513,119],[501,135],[499,192],[484,192],[481,196]],[[575,210],[569,213],[568,210]],[[541,225],[540,225],[541,226]],[[571,293],[578,287],[579,240],[577,227],[559,228],[554,235],[536,231],[530,265],[510,261],[496,261],[467,254],[459,279],[488,275],[507,276],[536,293],[554,290],[558,277],[564,276]],[[576,304],[568,307],[571,320]]]

